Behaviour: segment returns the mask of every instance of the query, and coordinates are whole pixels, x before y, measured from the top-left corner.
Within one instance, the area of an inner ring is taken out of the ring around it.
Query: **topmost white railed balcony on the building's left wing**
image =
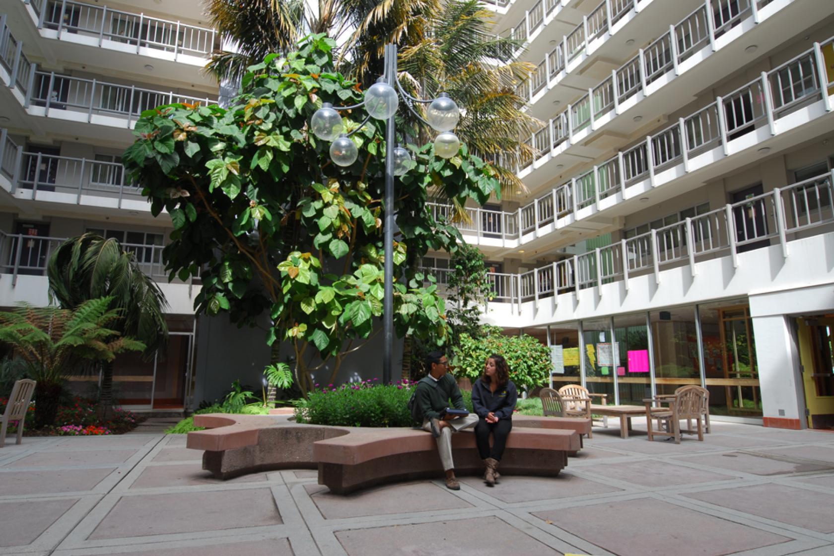
[[[159,8],[149,4],[151,10]],[[8,15],[18,38],[50,62],[60,59],[130,73],[147,73],[143,66],[150,63],[160,78],[216,86],[201,71],[219,44],[214,29],[149,17],[138,12],[138,5],[133,8],[137,12],[72,0],[23,0],[10,3]],[[168,9],[202,17],[197,3]]]

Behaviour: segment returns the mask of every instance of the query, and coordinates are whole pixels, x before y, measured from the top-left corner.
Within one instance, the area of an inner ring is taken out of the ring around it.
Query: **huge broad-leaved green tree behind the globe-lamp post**
[[[330,360],[334,378],[344,355],[379,331],[382,315],[384,140],[373,122],[358,129],[347,115],[359,158],[341,168],[330,162],[329,143],[307,133],[322,102],[361,100],[356,83],[334,72],[333,48],[315,35],[299,52],[269,55],[249,68],[228,109],[173,104],[143,113],[123,157],[153,214],[171,215],[163,251],[171,277],[202,278],[198,313],[228,312],[243,324],[269,311],[267,341],[291,343],[303,392]],[[450,160],[435,158],[432,144],[412,150],[416,161],[399,179],[393,207],[394,273],[405,273],[394,283],[394,327],[445,343],[443,299],[431,278],[426,286],[408,270],[429,249],[454,252],[460,239],[431,216],[427,189],[461,205],[485,203],[498,180],[465,146]]]

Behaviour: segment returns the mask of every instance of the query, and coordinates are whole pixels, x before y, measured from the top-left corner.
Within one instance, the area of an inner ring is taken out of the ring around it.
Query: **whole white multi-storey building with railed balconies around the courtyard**
[[[555,384],[615,403],[701,384],[714,415],[834,422],[834,4],[487,6],[495,33],[525,42],[515,56],[536,69],[517,92],[542,127],[525,138],[535,156],[501,160],[525,189],[460,224],[493,271],[485,321],[550,345]],[[198,284],[164,277],[169,220],[118,159],[142,110],[216,101],[202,67],[218,38],[200,13],[197,0],[0,0],[0,305],[46,303],[60,238],[126,243],[163,283],[177,334],[153,365],[120,366],[134,406],[217,395],[209,362],[234,353],[210,337],[262,345],[195,321]],[[424,264],[443,283],[444,255]]]

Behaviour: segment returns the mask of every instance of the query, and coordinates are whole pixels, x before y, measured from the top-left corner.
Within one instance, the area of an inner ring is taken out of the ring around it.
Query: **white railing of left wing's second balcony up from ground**
[[[5,129],[0,129],[0,174],[11,184],[10,193],[31,190],[35,200],[55,201],[63,196],[68,202],[81,203],[84,195],[93,195],[118,199],[119,207],[124,198],[144,200],[142,188],[128,181],[122,164],[27,153]]]

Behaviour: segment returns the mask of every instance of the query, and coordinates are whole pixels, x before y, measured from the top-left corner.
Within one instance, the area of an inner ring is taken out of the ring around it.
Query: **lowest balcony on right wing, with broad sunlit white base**
[[[821,174],[542,268],[490,274],[485,320],[523,328],[830,284],[832,183]],[[425,270],[441,286],[450,272]]]

